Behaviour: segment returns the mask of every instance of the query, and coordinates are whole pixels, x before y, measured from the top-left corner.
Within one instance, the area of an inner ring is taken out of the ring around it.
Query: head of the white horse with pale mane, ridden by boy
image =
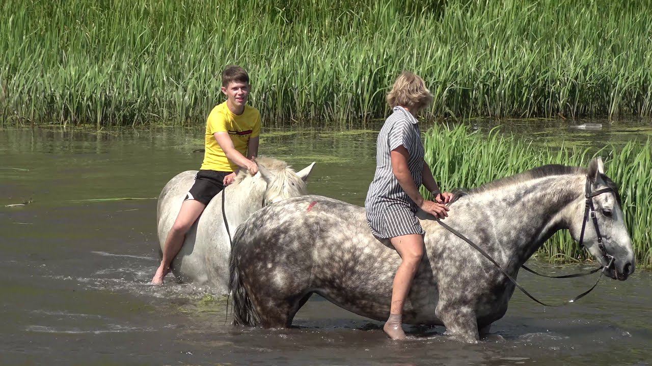
[[[314,162],[299,172],[294,171],[286,162],[273,158],[260,157],[256,163],[258,173],[255,176],[242,172],[237,180],[242,183],[251,180],[250,189],[264,190],[261,192],[263,206],[308,193],[306,181]]]

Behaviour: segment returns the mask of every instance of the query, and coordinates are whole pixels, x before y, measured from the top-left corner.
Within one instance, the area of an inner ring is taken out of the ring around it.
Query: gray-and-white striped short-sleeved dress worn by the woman
[[[417,204],[401,188],[392,172],[390,152],[400,145],[409,152],[409,172],[419,188],[424,154],[419,121],[406,109],[397,106],[378,134],[376,174],[364,201],[369,227],[379,238],[425,234],[416,216]]]

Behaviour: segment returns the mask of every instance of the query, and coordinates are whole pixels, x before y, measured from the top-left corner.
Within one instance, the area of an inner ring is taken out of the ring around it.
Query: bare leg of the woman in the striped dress
[[[385,322],[383,330],[391,339],[405,339],[406,334],[402,326],[403,304],[406,301],[412,279],[417,273],[423,256],[423,236],[421,234],[409,234],[395,236],[390,240],[401,256],[402,262],[398,270],[396,270],[396,275],[394,275],[392,304],[389,319]]]

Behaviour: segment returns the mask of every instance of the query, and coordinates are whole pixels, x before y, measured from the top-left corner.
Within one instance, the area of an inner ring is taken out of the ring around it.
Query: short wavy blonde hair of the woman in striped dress
[[[390,107],[408,107],[418,112],[431,103],[432,94],[426,88],[426,83],[420,76],[409,71],[404,71],[396,77],[392,90],[387,94],[387,104]]]

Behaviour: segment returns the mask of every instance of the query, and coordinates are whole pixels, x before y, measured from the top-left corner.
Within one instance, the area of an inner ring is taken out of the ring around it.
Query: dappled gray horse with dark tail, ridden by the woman
[[[545,240],[569,229],[578,240],[585,183],[593,197],[604,248],[614,257],[605,274],[627,279],[634,253],[614,183],[602,162],[589,169],[546,165],[460,194],[449,226],[484,249],[512,277]],[[422,214],[422,213],[421,213]],[[505,315],[514,285],[476,249],[434,218],[420,218],[424,257],[404,308],[408,324],[443,325],[466,341]],[[584,245],[608,263],[587,223]],[[234,322],[288,327],[312,293],[376,320],[389,314],[392,281],[401,262],[389,240],[372,236],[364,208],[307,195],[267,206],[239,227],[231,253]]]

